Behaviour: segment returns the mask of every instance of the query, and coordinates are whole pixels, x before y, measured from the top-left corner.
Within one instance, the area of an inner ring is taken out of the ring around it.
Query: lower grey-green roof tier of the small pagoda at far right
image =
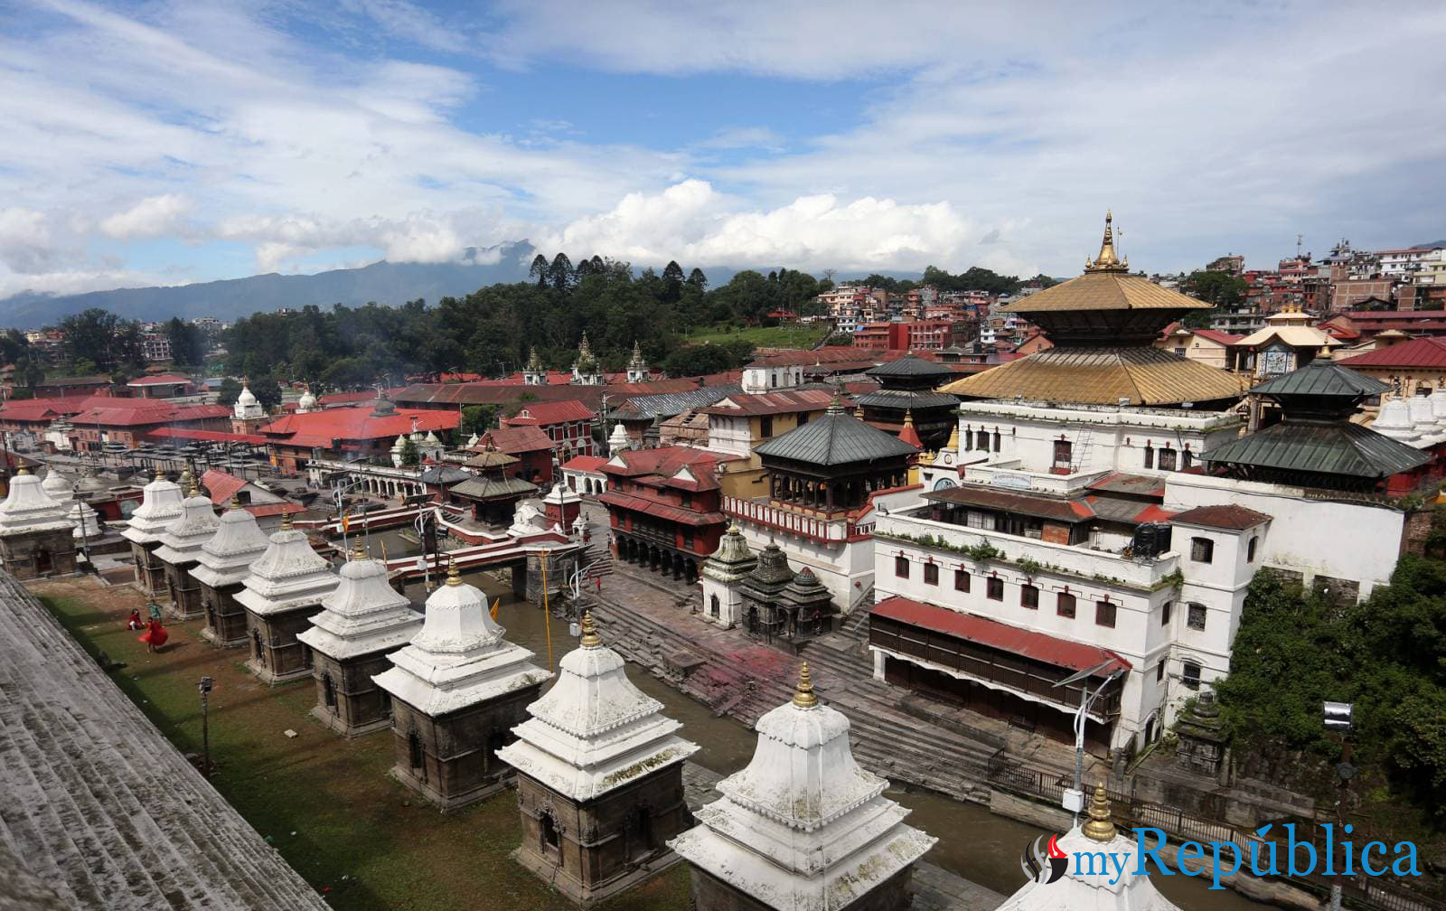
[[[1379,479],[1419,469],[1430,456],[1356,424],[1281,421],[1207,450],[1200,461]]]

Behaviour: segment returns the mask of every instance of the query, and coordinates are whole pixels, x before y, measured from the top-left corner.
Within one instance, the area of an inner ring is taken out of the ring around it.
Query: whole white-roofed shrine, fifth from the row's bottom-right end
[[[337,587],[321,599],[321,613],[296,641],[311,649],[317,706],[311,714],[331,730],[354,737],[392,723],[392,700],[375,675],[389,655],[422,628],[412,603],[388,583],[386,564],[357,545]]]

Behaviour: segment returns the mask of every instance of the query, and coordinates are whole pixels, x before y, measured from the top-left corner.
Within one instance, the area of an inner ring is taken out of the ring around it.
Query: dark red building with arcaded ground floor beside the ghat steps
[[[616,453],[602,466],[607,490],[597,495],[607,508],[613,554],[697,580],[727,528],[717,480],[717,466],[727,460],[681,445]]]

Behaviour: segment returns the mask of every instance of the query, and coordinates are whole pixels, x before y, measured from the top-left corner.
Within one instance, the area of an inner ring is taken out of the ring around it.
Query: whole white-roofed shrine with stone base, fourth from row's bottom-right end
[[[506,632],[453,565],[427,599],[422,630],[375,677],[392,697],[392,775],[444,811],[506,784],[512,766],[497,752],[552,677]]]

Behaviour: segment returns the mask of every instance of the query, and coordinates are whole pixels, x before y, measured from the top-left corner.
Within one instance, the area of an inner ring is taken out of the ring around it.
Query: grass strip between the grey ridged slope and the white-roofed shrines
[[[147,654],[124,628],[130,607],[145,604],[129,586],[62,580],[36,590],[91,655],[104,651],[126,662],[113,680],[181,752],[201,750],[197,681],[215,680],[213,784],[333,907],[573,908],[508,856],[519,842],[513,791],[442,816],[388,777],[390,732],[344,740],[307,714],[317,701],[312,681],[256,683],[241,668],[241,649],[220,651],[200,638],[201,620],[169,625],[165,651]],[[286,737],[286,729],[298,736]],[[604,908],[681,911],[687,904],[688,871],[680,863]]]

